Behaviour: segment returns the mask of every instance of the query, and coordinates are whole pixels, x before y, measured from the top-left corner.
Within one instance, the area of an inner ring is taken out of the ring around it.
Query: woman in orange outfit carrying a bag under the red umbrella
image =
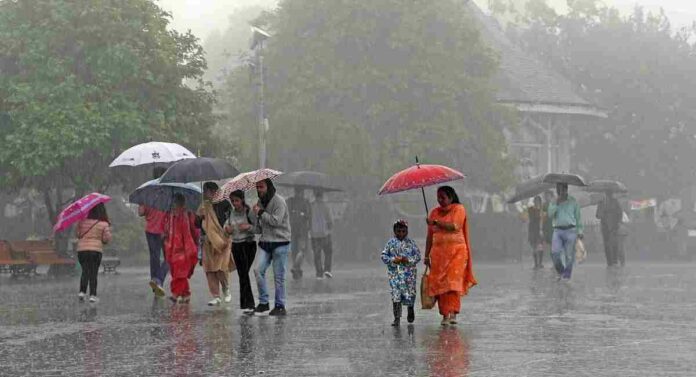
[[[428,294],[437,299],[442,325],[457,323],[461,296],[476,285],[469,247],[466,210],[450,186],[437,190],[438,208],[428,217],[425,264],[430,267]]]

